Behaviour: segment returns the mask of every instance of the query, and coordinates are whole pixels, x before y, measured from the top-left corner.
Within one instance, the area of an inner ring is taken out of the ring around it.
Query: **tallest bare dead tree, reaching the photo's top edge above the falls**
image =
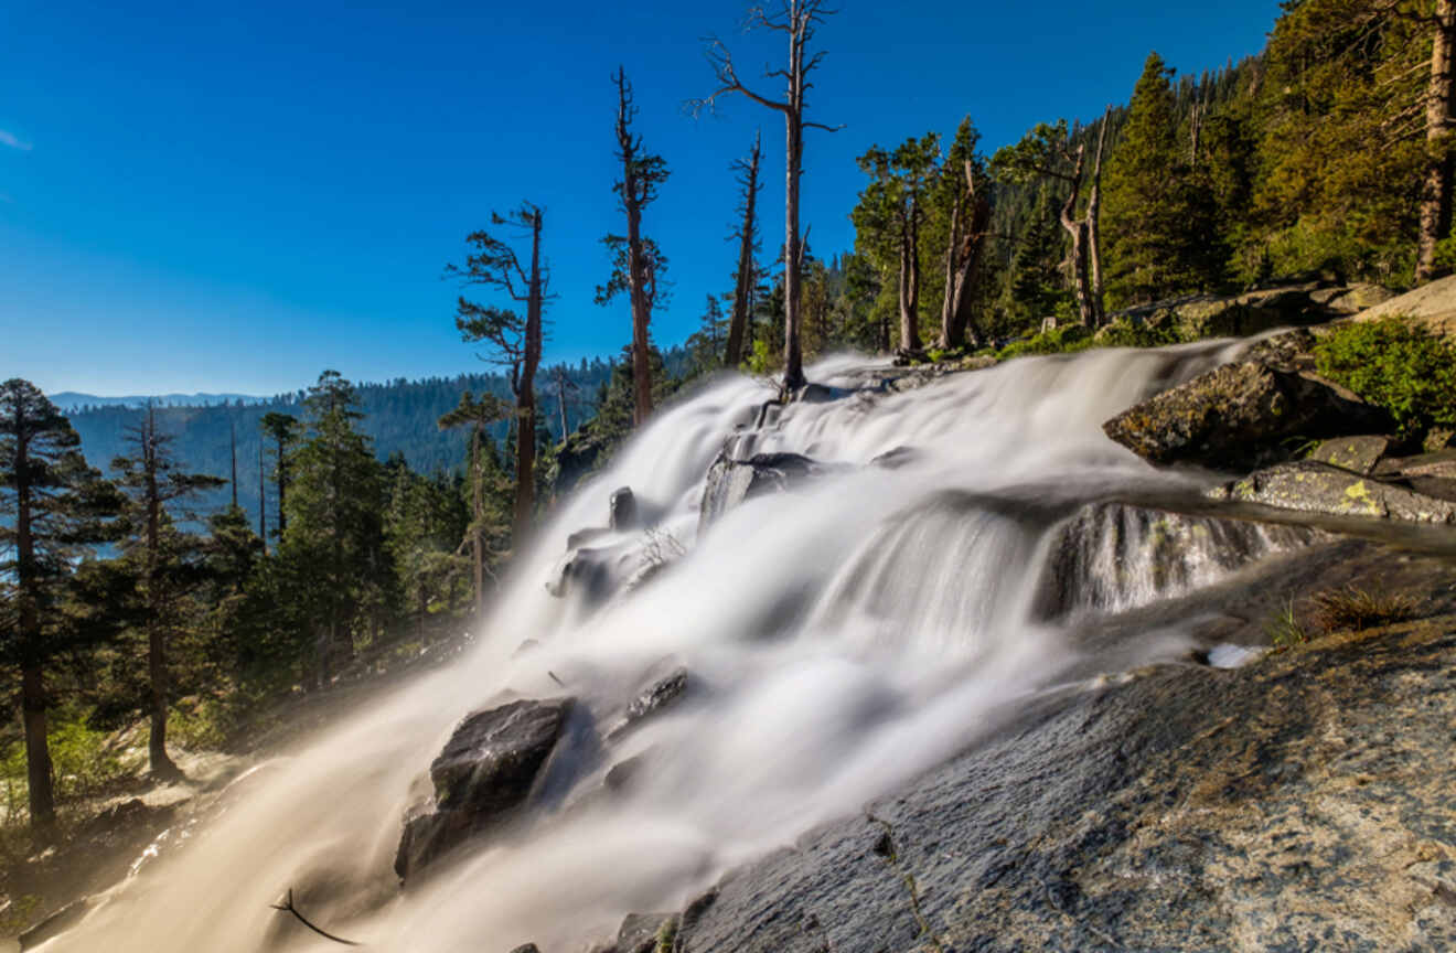
[[[799,336],[804,324],[804,281],[802,243],[799,239],[799,176],[804,172],[804,129],[826,129],[834,132],[843,127],[830,127],[804,118],[805,95],[814,89],[808,76],[824,60],[824,51],[808,55],[815,28],[834,10],[824,7],[823,0],[780,0],[779,9],[769,15],[763,7],[748,10],[748,29],[763,28],[785,33],[789,39],[789,63],[786,68],[770,70],[767,79],[785,81],[782,100],[761,96],[738,79],[732,55],[716,38],[708,38],[708,61],[718,79],[718,89],[708,97],[690,100],[695,115],[712,111],[719,96],[740,93],[767,109],[783,113],[786,134],[785,148],[785,201],[783,201],[783,387],[794,390],[804,386],[804,351]]]

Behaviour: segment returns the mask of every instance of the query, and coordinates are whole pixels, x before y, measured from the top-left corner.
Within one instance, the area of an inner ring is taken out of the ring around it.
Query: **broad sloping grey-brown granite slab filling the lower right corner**
[[[729,873],[678,950],[1456,949],[1453,653],[1447,615],[1042,698]]]

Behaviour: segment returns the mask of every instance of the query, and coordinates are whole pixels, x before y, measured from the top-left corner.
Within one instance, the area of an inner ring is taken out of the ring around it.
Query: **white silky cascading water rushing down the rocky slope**
[[[897,393],[888,367],[836,358],[810,374],[828,399],[789,404],[757,431],[745,428],[772,396],[764,384],[705,387],[542,530],[470,656],[234,783],[217,816],[47,949],[333,949],[269,909],[290,888],[314,921],[399,952],[575,950],[629,911],[681,908],[734,864],[994,730],[1019,698],[1099,671],[1076,613],[1044,611],[1048,573],[1091,594],[1064,610],[1159,594],[1118,581],[1152,565],[1128,533],[1108,546],[1131,556],[1093,541],[1069,557],[1067,527],[1107,522],[1082,506],[1200,486],[1147,467],[1101,423],[1226,351],[1022,359],[914,393]],[[735,457],[798,452],[820,467],[699,534],[705,473],[735,428]],[[893,466],[871,463],[891,452]],[[673,562],[600,604],[569,588],[553,598],[568,535],[603,524],[619,486],[654,528],[591,546],[619,547],[629,567]],[[1268,543],[1246,546],[1248,559],[1299,540]],[[1195,563],[1169,586],[1204,585],[1239,560]],[[518,652],[527,640],[540,645]],[[1130,652],[1147,662],[1188,645]],[[664,662],[690,672],[690,695],[597,742],[613,706]],[[400,889],[400,819],[451,726],[502,697],[563,694],[596,725],[578,726],[587,741],[553,764],[524,821]],[[604,773],[636,755],[633,784],[597,796]]]

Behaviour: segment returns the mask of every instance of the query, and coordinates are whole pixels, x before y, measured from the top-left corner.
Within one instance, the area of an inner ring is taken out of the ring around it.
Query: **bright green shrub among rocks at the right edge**
[[[1456,345],[1402,317],[1344,324],[1315,345],[1315,367],[1401,431],[1456,426]]]

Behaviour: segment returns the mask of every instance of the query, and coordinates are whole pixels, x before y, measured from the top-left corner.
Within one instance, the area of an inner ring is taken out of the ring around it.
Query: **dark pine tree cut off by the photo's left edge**
[[[119,505],[55,404],[29,381],[0,384],[0,658],[20,669],[31,829],[41,841],[55,829],[45,668],[67,647],[55,617],[76,560],[114,538]]]

